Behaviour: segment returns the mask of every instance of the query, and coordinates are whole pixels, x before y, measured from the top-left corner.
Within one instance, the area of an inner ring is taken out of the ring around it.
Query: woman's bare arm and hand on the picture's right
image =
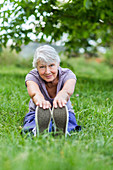
[[[57,104],[59,105],[59,107],[63,107],[67,103],[67,101],[74,92],[75,84],[75,79],[69,79],[65,82],[62,90],[58,92],[57,96],[53,101],[53,106],[55,108],[57,107]]]

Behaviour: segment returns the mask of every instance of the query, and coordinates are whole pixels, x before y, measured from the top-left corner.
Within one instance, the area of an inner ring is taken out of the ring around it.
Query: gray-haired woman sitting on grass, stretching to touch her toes
[[[34,135],[39,135],[45,129],[49,132],[60,129],[66,135],[81,129],[76,123],[70,102],[76,76],[59,64],[59,55],[53,47],[44,45],[36,49],[33,59],[35,68],[25,79],[31,99],[29,113],[24,119],[24,132],[32,131]]]

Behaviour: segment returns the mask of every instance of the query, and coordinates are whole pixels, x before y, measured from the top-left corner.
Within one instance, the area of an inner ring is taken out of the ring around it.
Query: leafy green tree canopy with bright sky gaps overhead
[[[113,39],[112,0],[4,0],[0,9],[1,47],[12,39],[11,48],[20,51],[31,41],[30,33],[38,42],[45,37],[56,42],[65,33],[69,52],[83,48],[91,53],[96,47],[90,40],[109,46]]]

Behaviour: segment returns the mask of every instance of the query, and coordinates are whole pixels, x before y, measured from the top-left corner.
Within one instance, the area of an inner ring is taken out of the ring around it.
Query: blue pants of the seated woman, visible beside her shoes
[[[51,120],[50,126],[49,126],[49,132],[52,131],[52,125],[53,125],[53,121]],[[27,113],[24,118],[23,131],[24,132],[32,131],[35,128],[35,126],[36,126],[35,111]],[[68,129],[67,130],[68,130],[68,132],[75,131],[75,130],[77,130],[77,131],[81,130],[81,126],[77,125],[75,115],[72,112],[69,112],[69,121],[68,121]]]

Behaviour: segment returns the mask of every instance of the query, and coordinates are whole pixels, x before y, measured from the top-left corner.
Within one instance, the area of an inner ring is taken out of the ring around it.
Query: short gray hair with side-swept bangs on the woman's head
[[[33,67],[37,67],[38,61],[44,61],[46,63],[52,63],[57,62],[60,63],[60,57],[56,50],[49,46],[49,45],[43,45],[36,49],[34,58],[33,58]]]

